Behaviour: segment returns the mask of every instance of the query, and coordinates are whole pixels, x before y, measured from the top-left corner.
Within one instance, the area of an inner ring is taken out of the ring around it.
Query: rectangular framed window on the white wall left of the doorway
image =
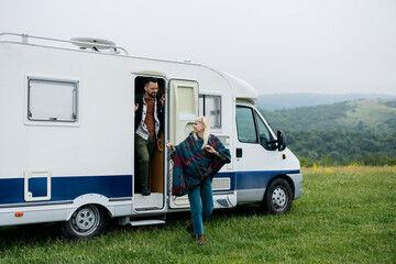
[[[28,86],[29,120],[77,121],[78,81],[30,78]]]

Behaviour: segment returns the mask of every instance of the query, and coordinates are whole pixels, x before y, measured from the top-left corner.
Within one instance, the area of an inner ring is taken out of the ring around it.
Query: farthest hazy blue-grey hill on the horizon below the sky
[[[342,101],[359,99],[395,99],[396,95],[376,94],[346,94],[346,95],[317,95],[317,94],[278,94],[261,95],[256,106],[261,109],[274,111],[299,107],[316,107]]]

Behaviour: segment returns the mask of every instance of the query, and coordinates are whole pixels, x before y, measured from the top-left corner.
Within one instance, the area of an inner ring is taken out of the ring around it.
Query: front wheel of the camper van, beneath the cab
[[[293,191],[289,183],[284,178],[274,179],[265,190],[263,199],[264,212],[282,215],[290,211]]]

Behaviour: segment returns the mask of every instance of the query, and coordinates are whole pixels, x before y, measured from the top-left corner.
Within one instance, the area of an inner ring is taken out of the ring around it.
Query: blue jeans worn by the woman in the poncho
[[[197,235],[204,234],[204,221],[209,218],[213,210],[210,178],[188,190],[188,200],[190,202],[194,233]]]

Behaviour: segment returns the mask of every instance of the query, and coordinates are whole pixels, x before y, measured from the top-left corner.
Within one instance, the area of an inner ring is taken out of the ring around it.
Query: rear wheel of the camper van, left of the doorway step
[[[61,223],[61,231],[66,239],[90,239],[105,232],[109,218],[106,211],[96,205],[78,208],[68,221]]]

